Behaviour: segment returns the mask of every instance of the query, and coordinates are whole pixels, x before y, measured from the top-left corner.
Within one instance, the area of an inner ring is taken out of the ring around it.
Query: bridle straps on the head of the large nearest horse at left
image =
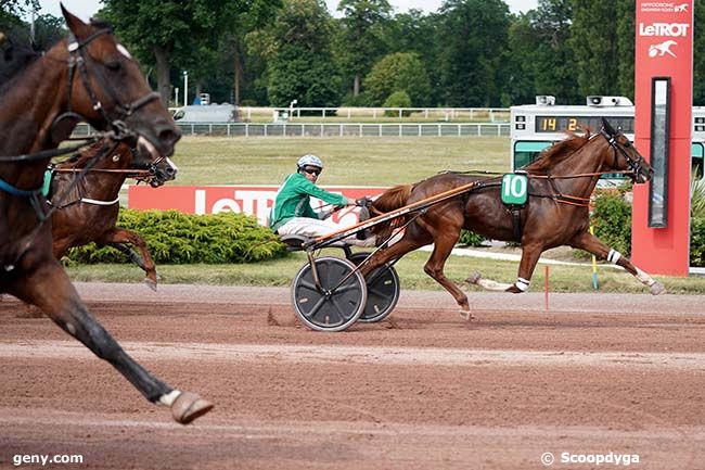
[[[88,62],[88,58],[90,58],[90,54],[87,58],[86,54],[86,47],[93,41],[93,39],[105,35],[105,34],[112,34],[110,28],[103,28],[99,29],[82,41],[79,41],[73,33],[68,34],[68,111],[66,113],[61,114],[60,116],[56,116],[54,119],[53,125],[55,125],[59,120],[63,118],[74,118],[76,116],[82,117],[77,113],[74,113],[72,111],[70,106],[70,100],[72,100],[72,91],[74,88],[74,77],[76,76],[76,69],[78,69],[78,73],[80,75],[81,82],[84,84],[84,88],[86,88],[86,92],[88,93],[88,97],[91,100],[91,104],[93,106],[94,111],[98,111],[101,116],[103,117],[103,120],[111,126],[111,129],[115,132],[115,137],[113,138],[114,140],[125,140],[127,138],[133,137],[134,132],[128,129],[127,124],[125,124],[125,119],[128,118],[129,116],[132,115],[140,107],[146,105],[148,103],[151,103],[154,100],[158,100],[159,93],[155,91],[151,91],[146,93],[145,96],[138,98],[137,100],[132,101],[131,103],[123,104],[120,100],[118,100],[115,94],[113,93],[113,90],[110,87],[104,87],[104,90],[111,98],[111,100],[116,103],[115,107],[118,111],[118,118],[112,119],[111,116],[107,114],[107,111],[105,111],[105,107],[103,107],[103,103],[98,99],[98,96],[95,94],[93,88],[91,87],[90,79],[88,77],[88,68],[86,66],[86,63]],[[97,72],[98,74],[98,72]]]

